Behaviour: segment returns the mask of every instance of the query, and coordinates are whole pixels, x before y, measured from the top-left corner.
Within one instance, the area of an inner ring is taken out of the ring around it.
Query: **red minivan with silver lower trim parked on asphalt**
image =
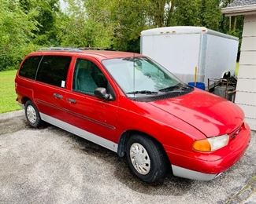
[[[32,127],[65,129],[126,156],[148,183],[177,177],[211,180],[250,142],[243,111],[135,53],[51,48],[31,53],[15,79]]]

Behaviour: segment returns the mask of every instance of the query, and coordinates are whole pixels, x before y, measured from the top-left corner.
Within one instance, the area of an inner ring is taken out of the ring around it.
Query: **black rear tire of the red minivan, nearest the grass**
[[[35,118],[29,119],[29,112],[30,112],[29,109],[32,110],[32,108],[35,110]],[[35,106],[35,104],[32,103],[31,100],[28,100],[25,103],[25,115],[26,115],[27,122],[28,122],[29,126],[32,126],[33,128],[38,128],[39,126],[41,126],[43,124],[43,121],[39,115],[39,111],[38,111],[37,107]]]

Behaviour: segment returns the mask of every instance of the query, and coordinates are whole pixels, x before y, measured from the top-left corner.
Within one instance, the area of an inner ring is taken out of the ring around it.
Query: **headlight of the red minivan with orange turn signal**
[[[193,148],[196,151],[215,151],[226,146],[228,144],[228,140],[228,135],[196,140],[193,144]]]

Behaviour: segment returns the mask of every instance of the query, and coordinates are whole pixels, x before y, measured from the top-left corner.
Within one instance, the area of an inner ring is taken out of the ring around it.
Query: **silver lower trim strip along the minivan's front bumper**
[[[172,165],[172,168],[173,168],[174,176],[188,178],[192,180],[212,180],[213,178],[216,178],[221,175],[221,173],[218,173],[218,174],[202,173],[202,172],[194,171],[191,169],[185,169],[183,167],[175,166],[175,165]]]

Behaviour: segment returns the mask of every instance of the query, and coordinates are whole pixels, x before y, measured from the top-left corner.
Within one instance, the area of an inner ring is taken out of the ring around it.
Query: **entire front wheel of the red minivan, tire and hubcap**
[[[154,183],[162,181],[167,171],[165,152],[154,140],[133,135],[126,145],[128,166],[139,179]]]

